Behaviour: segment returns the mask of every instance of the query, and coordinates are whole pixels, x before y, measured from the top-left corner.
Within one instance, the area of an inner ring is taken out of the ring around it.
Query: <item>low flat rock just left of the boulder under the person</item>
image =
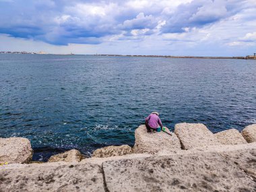
[[[107,146],[105,148],[100,148],[95,150],[92,154],[92,157],[95,158],[108,158],[111,156],[124,156],[127,154],[132,154],[133,151],[131,150],[130,146],[123,145],[123,146]]]

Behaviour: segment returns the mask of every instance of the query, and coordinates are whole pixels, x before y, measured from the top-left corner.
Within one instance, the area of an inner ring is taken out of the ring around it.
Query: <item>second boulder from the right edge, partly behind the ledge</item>
[[[221,131],[219,133],[214,134],[218,141],[223,145],[237,145],[237,144],[244,144],[247,141],[244,137],[239,133],[236,129],[228,129],[226,131]]]

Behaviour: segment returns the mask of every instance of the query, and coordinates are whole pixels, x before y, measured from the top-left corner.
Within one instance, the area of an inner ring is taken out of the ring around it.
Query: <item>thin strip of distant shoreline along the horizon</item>
[[[51,54],[51,53],[34,53],[34,52],[26,52],[26,51],[1,51],[0,54],[23,54],[23,55],[75,55],[71,54]],[[178,59],[249,59],[256,60],[253,56],[246,57],[203,57],[203,56],[171,56],[171,55],[108,55],[108,54],[96,54],[94,56],[103,56],[103,57],[162,57],[162,58],[178,58]]]

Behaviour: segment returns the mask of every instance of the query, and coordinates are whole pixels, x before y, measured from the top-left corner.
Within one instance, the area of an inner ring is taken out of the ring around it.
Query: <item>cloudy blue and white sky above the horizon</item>
[[[256,0],[0,0],[0,51],[253,55]]]

